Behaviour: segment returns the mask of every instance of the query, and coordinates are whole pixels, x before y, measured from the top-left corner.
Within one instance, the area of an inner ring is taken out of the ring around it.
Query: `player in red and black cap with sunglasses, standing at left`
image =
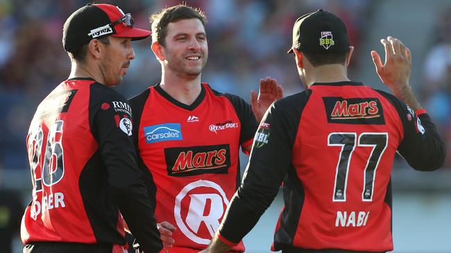
[[[24,252],[123,253],[122,216],[145,252],[162,249],[136,163],[130,106],[110,88],[135,58],[131,40],[149,35],[109,4],[67,19],[69,79],[37,107],[26,138],[33,200],[22,219]]]

